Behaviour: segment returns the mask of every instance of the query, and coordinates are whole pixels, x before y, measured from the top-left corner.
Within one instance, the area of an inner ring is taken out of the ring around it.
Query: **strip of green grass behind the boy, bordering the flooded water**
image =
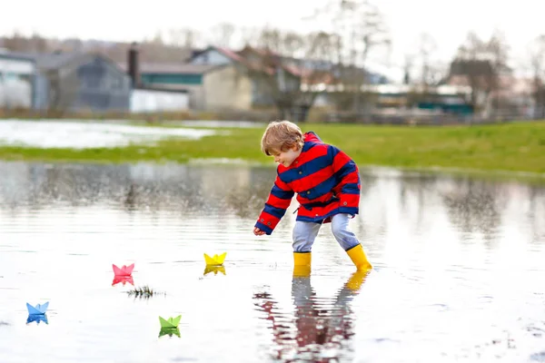
[[[362,126],[302,124],[324,142],[347,152],[360,165],[403,168],[457,168],[479,171],[545,173],[545,123],[483,126]],[[260,151],[263,129],[220,129],[197,141],[168,139],[154,145],[114,149],[37,149],[0,147],[0,159],[47,162],[188,162],[242,159],[272,163]]]

